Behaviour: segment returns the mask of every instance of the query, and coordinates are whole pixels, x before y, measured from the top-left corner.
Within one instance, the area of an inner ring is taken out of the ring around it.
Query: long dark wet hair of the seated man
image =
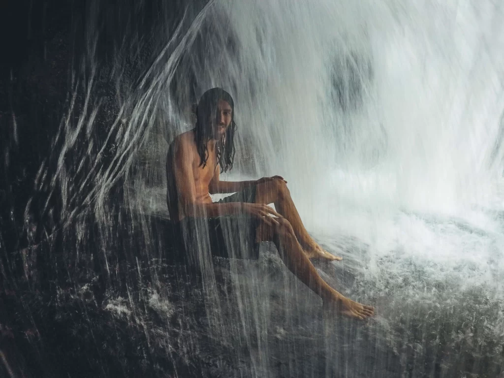
[[[195,140],[198,154],[200,155],[200,166],[206,166],[208,160],[207,143],[214,138],[214,122],[219,122],[220,114],[217,113],[217,105],[220,100],[226,101],[232,109],[231,124],[226,130],[226,134],[217,141],[217,162],[221,172],[227,172],[233,167],[234,160],[234,133],[236,123],[234,122],[234,101],[229,93],[222,88],[212,88],[203,93],[196,108]],[[212,119],[214,122],[212,122]]]

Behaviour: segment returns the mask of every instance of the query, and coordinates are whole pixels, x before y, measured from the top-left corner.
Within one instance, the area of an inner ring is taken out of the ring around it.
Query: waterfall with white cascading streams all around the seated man
[[[95,1],[73,15],[64,100],[2,261],[9,303],[40,334],[17,347],[42,356],[26,370],[502,374],[503,6]],[[238,125],[221,179],[285,177],[306,229],[343,257],[316,268],[375,306],[370,321],[328,318],[269,243],[197,272],[170,260],[168,145],[216,86]],[[16,112],[8,169],[35,138]]]

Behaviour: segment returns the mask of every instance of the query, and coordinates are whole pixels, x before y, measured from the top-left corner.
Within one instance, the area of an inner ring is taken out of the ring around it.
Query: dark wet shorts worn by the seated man
[[[219,203],[254,203],[256,186],[250,186]],[[248,214],[226,215],[212,218],[186,217],[175,224],[182,236],[187,257],[201,260],[209,252],[212,256],[228,259],[257,260],[259,244],[256,232],[259,221]]]

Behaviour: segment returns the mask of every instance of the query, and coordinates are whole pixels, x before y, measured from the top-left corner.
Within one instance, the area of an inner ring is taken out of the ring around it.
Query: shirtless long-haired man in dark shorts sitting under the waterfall
[[[287,268],[317,293],[325,306],[352,318],[372,316],[373,307],[334,290],[311,264],[311,258],[341,258],[322,249],[308,234],[283,177],[219,180],[219,174],[233,165],[233,109],[233,99],[223,89],[205,92],[196,111],[195,129],[176,137],[168,149],[167,203],[179,233],[203,226],[213,255],[241,259],[257,259],[258,243],[273,241]],[[215,193],[235,194],[214,203],[210,194]],[[276,211],[268,206],[272,203]]]

